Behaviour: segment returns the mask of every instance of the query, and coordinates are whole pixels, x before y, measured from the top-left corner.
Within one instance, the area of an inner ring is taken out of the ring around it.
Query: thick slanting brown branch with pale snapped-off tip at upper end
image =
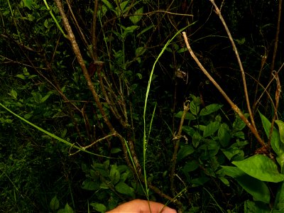
[[[228,97],[228,95],[226,94],[226,92],[224,92],[224,90],[219,86],[219,84],[214,80],[214,78],[209,74],[209,72],[207,72],[207,70],[203,67],[203,65],[201,64],[200,60],[198,60],[198,58],[196,57],[195,53],[193,53],[192,48],[190,47],[190,44],[188,43],[187,40],[187,35],[185,32],[182,32],[183,38],[185,40],[185,44],[187,46],[188,51],[190,52],[190,55],[192,56],[193,60],[195,60],[195,62],[197,63],[198,67],[200,67],[200,69],[202,70],[202,72],[204,73],[204,75],[206,75],[208,77],[208,79],[214,84],[214,86],[219,90],[219,92],[223,95],[223,97],[226,99],[226,102],[228,102],[231,105],[231,109],[233,109],[236,114],[238,114],[240,116],[240,118],[244,121],[244,123],[246,124],[246,126],[249,127],[249,129],[251,130],[251,132],[253,133],[254,136],[256,136],[256,139],[258,141],[258,143],[261,144],[261,146],[263,146],[264,148],[266,148],[266,143],[264,143],[263,139],[261,138],[261,136],[259,136],[258,131],[256,130],[256,128],[254,128],[251,123],[249,122],[248,119],[246,119],[246,116],[244,116],[244,114],[242,113],[241,109],[239,109],[239,107],[236,106],[236,104],[234,104],[234,102],[231,101],[231,99]]]

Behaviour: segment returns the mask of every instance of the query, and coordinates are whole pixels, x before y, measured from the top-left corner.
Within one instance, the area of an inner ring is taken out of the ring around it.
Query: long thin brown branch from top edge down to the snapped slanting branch
[[[218,6],[215,4],[214,0],[209,0],[209,1],[211,1],[211,3],[213,4],[215,12],[217,13],[217,15],[219,16],[220,20],[222,21],[222,24],[223,24],[223,26],[224,26],[224,28],[226,30],[226,33],[229,36],[229,40],[231,41],[231,45],[233,46],[233,50],[234,50],[234,52],[236,54],[236,60],[238,61],[239,67],[240,67],[240,70],[241,70],[241,77],[242,77],[243,84],[244,84],[244,95],[246,97],[246,105],[247,105],[247,108],[248,108],[248,111],[249,111],[249,116],[251,118],[251,124],[252,124],[253,128],[256,129],[256,124],[254,123],[253,114],[251,112],[251,104],[249,103],[249,93],[248,93],[248,89],[246,87],[246,74],[244,72],[243,64],[241,63],[241,58],[239,56],[238,50],[236,49],[236,45],[234,43],[234,39],[231,36],[231,32],[229,31],[229,28],[226,25],[226,22],[225,22],[222,14],[221,14],[221,11],[219,10]],[[257,131],[257,129],[256,129],[256,131]]]

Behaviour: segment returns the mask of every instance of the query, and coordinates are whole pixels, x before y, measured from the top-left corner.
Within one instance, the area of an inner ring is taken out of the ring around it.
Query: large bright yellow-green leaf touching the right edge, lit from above
[[[284,175],[278,172],[277,165],[264,155],[253,155],[241,161],[233,161],[239,169],[251,177],[267,182],[281,182]]]

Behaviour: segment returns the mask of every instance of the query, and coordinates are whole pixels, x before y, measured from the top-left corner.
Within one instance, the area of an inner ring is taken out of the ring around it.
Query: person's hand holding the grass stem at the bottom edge
[[[149,209],[149,206],[151,210]],[[165,207],[164,204],[147,201],[147,200],[132,200],[119,205],[115,209],[107,213],[177,213],[175,209]]]

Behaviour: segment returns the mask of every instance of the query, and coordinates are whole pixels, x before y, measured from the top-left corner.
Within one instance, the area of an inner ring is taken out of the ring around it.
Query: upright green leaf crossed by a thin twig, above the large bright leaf
[[[268,121],[268,119],[266,119],[266,117],[263,116],[263,114],[261,114],[260,112],[259,114],[261,116],[263,129],[266,132],[267,138],[269,138],[269,134],[271,131],[271,121]],[[275,151],[277,155],[280,155],[281,153],[283,153],[283,148],[281,147],[281,144],[280,144],[279,132],[274,126],[273,126],[273,131],[271,134],[271,147],[273,148],[273,151]]]

